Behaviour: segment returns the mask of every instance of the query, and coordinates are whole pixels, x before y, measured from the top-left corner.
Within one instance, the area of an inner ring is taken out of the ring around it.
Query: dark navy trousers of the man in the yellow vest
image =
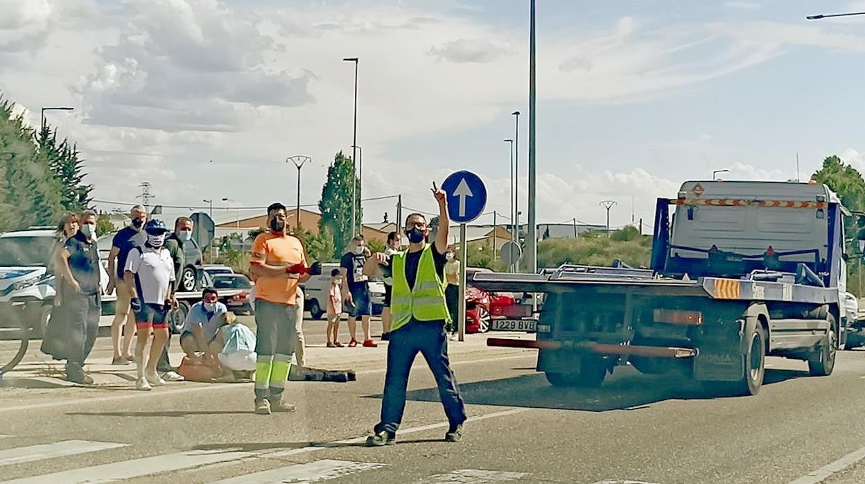
[[[453,376],[451,362],[447,358],[447,338],[442,322],[412,321],[390,334],[388,371],[385,374],[384,397],[381,400],[381,422],[375,426],[375,432],[387,430],[393,435],[396,434],[396,429],[399,429],[402,413],[406,408],[408,372],[418,352],[426,359],[426,365],[429,365],[439,386],[439,397],[451,427],[464,423],[465,403],[459,394],[457,379]]]

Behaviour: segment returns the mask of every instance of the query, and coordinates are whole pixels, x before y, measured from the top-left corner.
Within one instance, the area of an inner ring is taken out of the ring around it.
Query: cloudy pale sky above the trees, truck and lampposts
[[[509,147],[528,138],[528,0],[0,0],[0,91],[78,142],[99,200],[227,207],[317,203],[358,145],[363,197],[477,171],[509,213]],[[863,1],[541,0],[538,220],[651,219],[682,180],[801,177],[836,153],[865,167]],[[211,161],[212,160],[212,161]],[[230,198],[222,202],[222,198]],[[395,200],[364,203],[365,221]],[[103,203],[105,209],[118,204]],[[168,210],[167,210],[168,211]],[[189,210],[172,210],[170,213]],[[491,222],[491,216],[482,219]]]

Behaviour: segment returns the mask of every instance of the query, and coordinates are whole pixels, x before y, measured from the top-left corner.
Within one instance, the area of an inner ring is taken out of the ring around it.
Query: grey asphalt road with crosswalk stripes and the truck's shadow
[[[132,369],[107,365],[105,338],[93,387],[63,383],[31,353],[0,388],[0,481],[865,482],[863,351],[839,353],[827,378],[770,358],[758,396],[713,397],[630,367],[598,390],[554,389],[533,371],[534,352],[470,335],[451,346],[471,416],[463,442],[442,441],[445,416],[419,358],[399,442],[367,449],[385,346],[328,349],[323,322],[305,330],[309,365],[351,367],[357,381],[291,382],[298,411],[272,416],[252,413],[251,384],[132,390]]]

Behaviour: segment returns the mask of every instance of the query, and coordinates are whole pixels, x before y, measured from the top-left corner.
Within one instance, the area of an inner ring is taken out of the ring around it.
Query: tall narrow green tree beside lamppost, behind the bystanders
[[[354,221],[351,220],[352,180],[354,180],[357,192]],[[322,198],[318,202],[318,210],[321,212],[319,229],[322,231],[327,229],[330,234],[333,234],[333,256],[338,257],[349,245],[352,223],[355,223],[356,227],[360,227],[363,220],[361,184],[357,180],[351,157],[346,157],[342,151],[336,153],[333,163],[328,167],[327,182],[322,187]]]

